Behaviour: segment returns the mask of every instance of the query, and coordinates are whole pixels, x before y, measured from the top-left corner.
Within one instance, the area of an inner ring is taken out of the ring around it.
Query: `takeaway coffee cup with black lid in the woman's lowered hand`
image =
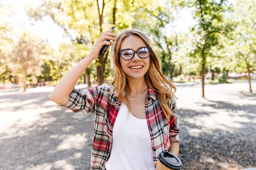
[[[180,170],[182,168],[182,162],[180,158],[173,155],[167,150],[163,150],[158,155],[157,166],[155,170]]]

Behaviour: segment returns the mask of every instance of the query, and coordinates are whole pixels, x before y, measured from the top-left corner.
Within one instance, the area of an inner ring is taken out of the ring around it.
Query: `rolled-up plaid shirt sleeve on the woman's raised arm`
[[[88,90],[74,88],[74,90],[70,93],[70,98],[67,101],[67,104],[63,105],[63,107],[70,108],[73,112],[76,113],[94,113],[95,102],[99,101],[99,98],[103,98],[99,96],[103,96],[106,88],[108,88],[106,84],[103,84],[102,86],[96,86],[95,88]]]

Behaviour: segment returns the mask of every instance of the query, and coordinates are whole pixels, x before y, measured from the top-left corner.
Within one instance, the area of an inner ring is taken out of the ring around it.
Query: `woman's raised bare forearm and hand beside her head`
[[[69,71],[60,82],[58,82],[57,86],[52,91],[50,95],[50,99],[56,104],[65,105],[70,98],[70,93],[73,91],[76,82],[79,77],[83,74],[85,69],[89,66],[89,64],[99,56],[99,52],[103,45],[111,45],[111,42],[105,40],[115,41],[113,37],[117,35],[112,33],[112,30],[105,31],[101,34],[101,37],[95,42],[92,51],[88,54],[87,57],[83,58],[81,62],[79,62],[71,71]]]

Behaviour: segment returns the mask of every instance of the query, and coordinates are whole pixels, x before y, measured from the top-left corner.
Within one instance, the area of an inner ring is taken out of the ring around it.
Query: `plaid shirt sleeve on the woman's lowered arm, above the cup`
[[[173,99],[171,99],[170,105],[171,105],[170,108],[172,113],[176,115],[177,108],[176,108],[176,100],[174,99],[174,97]],[[180,143],[180,137],[179,137],[180,126],[179,126],[179,122],[177,121],[177,116],[171,115],[169,124],[170,124],[170,129],[169,129],[170,142]]]

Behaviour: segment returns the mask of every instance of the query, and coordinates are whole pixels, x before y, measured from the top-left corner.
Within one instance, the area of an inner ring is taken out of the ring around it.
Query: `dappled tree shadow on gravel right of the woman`
[[[240,119],[234,123],[239,124],[240,127],[233,127],[231,130],[232,125],[229,124],[229,120],[226,120],[227,124],[222,124],[222,128],[208,126],[207,130],[204,130],[207,122],[198,124],[195,121],[218,113],[213,110],[209,112],[177,110],[180,115],[180,137],[182,139],[179,156],[184,163],[184,170],[238,170],[238,167],[239,169],[255,167],[256,106],[250,104],[236,106],[227,102],[208,101],[211,104],[201,103],[202,106],[224,109],[230,117],[232,115],[239,117]],[[239,110],[251,114],[241,114]],[[221,116],[218,118],[223,119]],[[242,121],[244,119],[252,121],[244,122]],[[226,130],[223,130],[223,127]],[[193,132],[195,129],[196,131]]]

